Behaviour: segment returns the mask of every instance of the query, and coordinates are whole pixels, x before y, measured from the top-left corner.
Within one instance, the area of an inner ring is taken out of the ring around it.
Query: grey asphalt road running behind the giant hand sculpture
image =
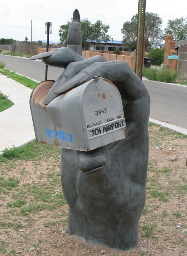
[[[45,80],[46,65],[40,61],[0,54],[5,68],[33,78]],[[48,79],[56,80],[63,68],[48,66]],[[187,86],[142,80],[151,98],[150,118],[187,128]]]

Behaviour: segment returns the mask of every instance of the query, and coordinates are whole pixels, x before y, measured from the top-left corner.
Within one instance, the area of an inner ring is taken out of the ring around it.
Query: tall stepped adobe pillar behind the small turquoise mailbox
[[[168,59],[168,56],[172,54],[177,55],[177,51],[175,51],[175,41],[173,41],[173,36],[166,35],[165,36],[165,50],[164,50],[164,64],[166,64],[166,68],[170,70],[177,69],[177,59]]]

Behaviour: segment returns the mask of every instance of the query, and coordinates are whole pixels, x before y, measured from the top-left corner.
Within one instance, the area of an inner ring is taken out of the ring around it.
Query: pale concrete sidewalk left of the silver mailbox
[[[29,99],[32,90],[0,73],[0,91],[14,102],[0,112],[0,154],[5,148],[20,147],[35,140]]]

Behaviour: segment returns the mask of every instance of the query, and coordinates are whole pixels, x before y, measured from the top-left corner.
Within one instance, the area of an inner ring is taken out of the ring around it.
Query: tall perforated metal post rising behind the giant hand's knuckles
[[[144,49],[144,27],[146,14],[146,0],[138,1],[138,24],[137,24],[137,52],[135,73],[142,80],[143,49]]]

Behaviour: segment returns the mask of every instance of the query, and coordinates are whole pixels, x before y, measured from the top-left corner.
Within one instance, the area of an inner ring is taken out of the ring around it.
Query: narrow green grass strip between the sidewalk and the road
[[[36,83],[35,81],[33,81],[29,78],[17,75],[15,72],[10,72],[9,70],[4,69],[4,68],[0,69],[0,73],[2,73],[3,75],[17,81],[18,83],[23,84],[26,87],[29,87],[31,89],[34,89],[36,87],[36,85],[38,84],[38,83]]]

